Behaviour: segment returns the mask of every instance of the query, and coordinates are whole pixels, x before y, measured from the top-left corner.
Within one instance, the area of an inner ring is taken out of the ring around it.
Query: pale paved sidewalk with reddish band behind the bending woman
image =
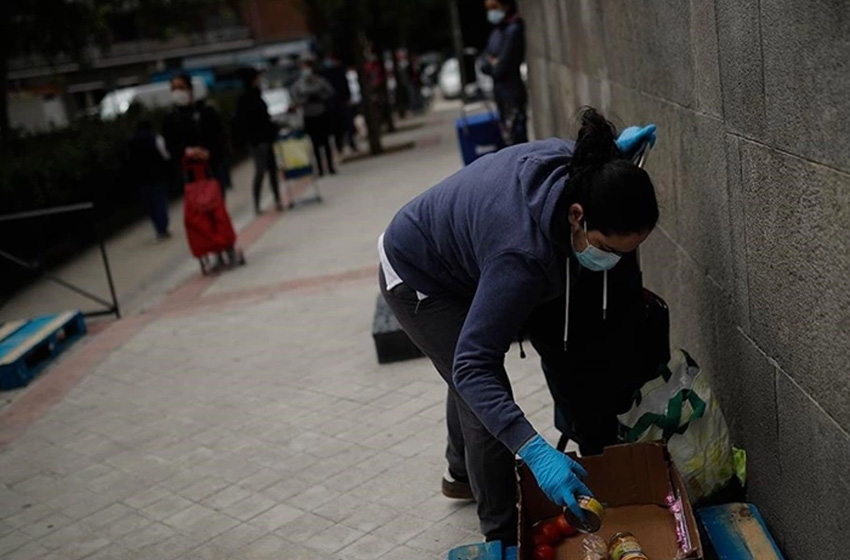
[[[247,267],[160,287],[0,413],[0,556],[436,559],[480,540],[474,505],[439,493],[445,384],[426,360],[379,366],[371,339],[377,236],[460,167],[456,111],[341,166],[324,204],[251,222]],[[518,354],[517,398],[554,440]]]

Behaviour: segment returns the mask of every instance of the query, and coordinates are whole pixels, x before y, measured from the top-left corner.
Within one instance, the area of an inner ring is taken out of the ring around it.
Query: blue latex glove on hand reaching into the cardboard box
[[[584,512],[578,507],[576,496],[593,496],[581,480],[587,476],[584,467],[549,445],[539,435],[528,440],[518,455],[534,473],[540,489],[552,502],[567,506],[579,519],[584,519]]]

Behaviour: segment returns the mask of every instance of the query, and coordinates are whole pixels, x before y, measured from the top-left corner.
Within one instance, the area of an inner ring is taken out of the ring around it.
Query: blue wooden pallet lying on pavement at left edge
[[[29,384],[85,333],[86,322],[79,311],[0,325],[0,390]]]

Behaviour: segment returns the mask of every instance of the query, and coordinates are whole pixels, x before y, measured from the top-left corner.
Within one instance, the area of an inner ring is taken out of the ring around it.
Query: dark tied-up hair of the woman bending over
[[[617,129],[601,113],[583,107],[579,119],[560,206],[566,213],[580,204],[588,229],[605,235],[651,231],[658,222],[658,201],[649,175],[623,157],[617,148]]]

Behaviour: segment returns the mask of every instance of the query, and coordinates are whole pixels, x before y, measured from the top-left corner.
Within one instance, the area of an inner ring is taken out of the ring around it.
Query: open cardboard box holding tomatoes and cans
[[[661,443],[633,443],[605,448],[602,455],[577,459],[587,469],[587,485],[605,505],[605,519],[597,533],[606,541],[615,533],[629,531],[637,537],[649,560],[702,560],[694,513],[676,467]],[[519,483],[518,560],[533,560],[532,526],[554,517],[561,509],[550,502],[534,475],[517,464]],[[680,521],[690,540],[689,550],[680,550],[676,540],[676,517],[667,507],[667,497],[681,498]],[[581,560],[584,535],[564,539],[555,549],[557,560]]]

